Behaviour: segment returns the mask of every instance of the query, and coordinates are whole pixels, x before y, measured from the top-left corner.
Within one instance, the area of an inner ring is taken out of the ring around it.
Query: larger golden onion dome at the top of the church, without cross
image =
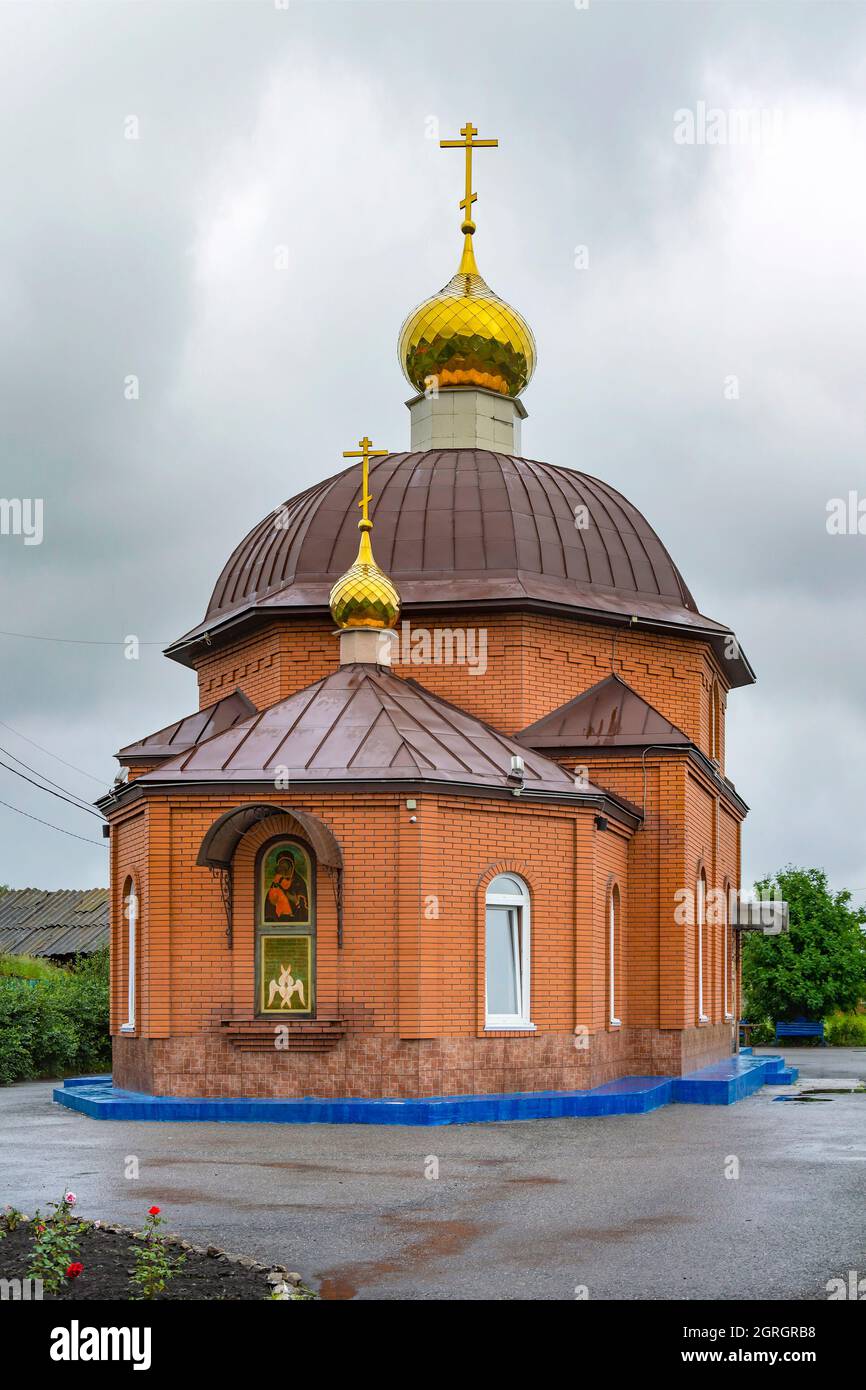
[[[525,318],[478,274],[473,234],[453,279],[409,316],[400,329],[400,367],[423,392],[431,377],[443,386],[484,386],[518,396],[535,370],[535,339]]]

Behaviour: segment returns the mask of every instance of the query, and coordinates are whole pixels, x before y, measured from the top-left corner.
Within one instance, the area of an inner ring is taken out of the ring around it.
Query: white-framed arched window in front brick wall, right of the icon
[[[485,898],[485,1020],[488,1029],[528,1029],[530,890],[496,874]]]

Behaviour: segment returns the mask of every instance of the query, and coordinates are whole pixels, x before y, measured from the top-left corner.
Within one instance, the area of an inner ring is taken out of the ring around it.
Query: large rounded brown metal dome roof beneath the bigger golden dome
[[[728,632],[698,612],[637,507],[585,473],[487,449],[432,449],[375,460],[370,482],[375,557],[405,612],[532,606],[637,617],[717,641]],[[359,488],[352,464],[264,517],[228,560],[204,621],[168,655],[189,660],[202,634],[256,616],[327,610],[357,550]]]

